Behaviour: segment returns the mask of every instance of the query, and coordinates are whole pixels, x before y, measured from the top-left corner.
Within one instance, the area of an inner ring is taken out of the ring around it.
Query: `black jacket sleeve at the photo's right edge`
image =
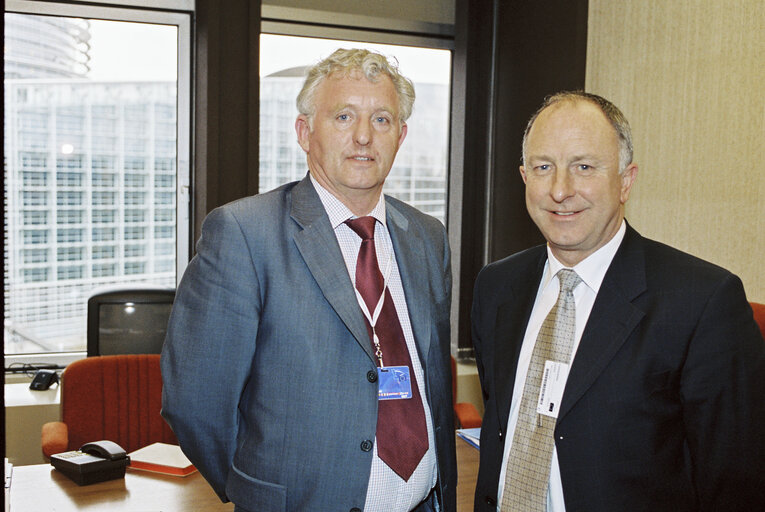
[[[694,329],[680,392],[701,510],[765,509],[765,343],[732,274]]]

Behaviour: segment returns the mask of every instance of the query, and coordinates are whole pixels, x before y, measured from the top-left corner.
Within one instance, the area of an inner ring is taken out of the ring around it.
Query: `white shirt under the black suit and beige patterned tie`
[[[611,261],[616,255],[616,251],[624,239],[624,233],[627,227],[622,220],[622,225],[616,235],[608,241],[606,245],[592,253],[590,256],[579,262],[573,270],[582,279],[582,282],[574,289],[574,300],[576,302],[576,329],[574,346],[571,351],[570,363],[573,364],[576,350],[579,347],[579,341],[582,339],[584,327],[587,319],[590,317],[592,305],[600,290],[600,285],[606,275]],[[534,344],[537,335],[542,327],[547,314],[553,308],[558,300],[560,284],[558,279],[554,279],[555,274],[565,266],[553,256],[548,245],[547,263],[542,273],[542,280],[539,283],[537,297],[534,301],[534,309],[531,311],[529,324],[526,327],[526,334],[523,337],[523,345],[518,357],[518,369],[515,373],[515,385],[513,387],[513,399],[510,404],[510,417],[507,422],[507,436],[505,437],[505,453],[502,457],[502,470],[499,474],[499,496],[497,499],[497,510],[500,510],[502,503],[502,494],[505,485],[505,474],[507,471],[507,458],[510,455],[510,447],[513,444],[513,435],[515,425],[518,422],[518,411],[523,396],[523,387],[526,383],[526,373],[531,362],[531,353],[534,350]],[[560,478],[560,466],[558,465],[558,453],[553,445],[552,465],[550,467],[550,483],[547,493],[547,512],[565,512],[566,506],[563,502],[563,485]]]

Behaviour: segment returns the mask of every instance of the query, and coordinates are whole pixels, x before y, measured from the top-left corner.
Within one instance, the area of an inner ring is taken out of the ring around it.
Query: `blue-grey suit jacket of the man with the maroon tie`
[[[386,212],[433,417],[431,501],[454,510],[446,233],[395,199],[386,197]],[[208,215],[170,317],[162,414],[222,499],[258,512],[362,509],[374,361],[308,177]]]

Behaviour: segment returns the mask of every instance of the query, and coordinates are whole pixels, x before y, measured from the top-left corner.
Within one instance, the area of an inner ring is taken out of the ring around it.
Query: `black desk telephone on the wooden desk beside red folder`
[[[50,463],[77,485],[89,485],[125,478],[130,457],[113,441],[96,441],[85,443],[79,450],[51,455]]]

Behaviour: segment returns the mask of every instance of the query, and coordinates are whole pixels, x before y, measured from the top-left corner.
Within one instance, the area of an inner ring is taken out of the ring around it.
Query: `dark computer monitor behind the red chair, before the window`
[[[88,299],[88,357],[159,354],[174,289],[123,288]]]

